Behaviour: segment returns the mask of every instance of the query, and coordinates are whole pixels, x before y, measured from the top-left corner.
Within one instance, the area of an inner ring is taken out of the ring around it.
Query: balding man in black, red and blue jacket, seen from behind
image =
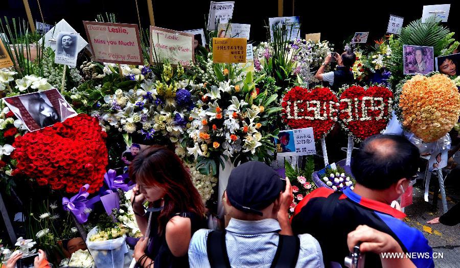
[[[351,165],[355,188],[334,193],[322,187],[308,194],[291,218],[293,232],[309,233],[318,240],[326,266],[330,262],[344,266],[349,255],[347,235],[366,225],[392,236],[407,253],[399,258],[410,258],[417,267],[434,267],[428,240],[402,221],[403,212],[389,205],[408,187],[419,161],[419,150],[404,137],[376,135],[364,140]],[[366,253],[365,267],[381,267],[381,257]]]

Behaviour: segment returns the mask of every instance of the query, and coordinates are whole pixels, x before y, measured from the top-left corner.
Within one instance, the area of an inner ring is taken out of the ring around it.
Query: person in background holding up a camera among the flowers
[[[325,73],[326,65],[331,63],[335,59],[337,62],[337,69],[335,71],[330,71]],[[316,72],[315,78],[319,81],[329,82],[329,85],[333,91],[338,91],[338,89],[344,84],[353,84],[354,77],[351,68],[355,64],[356,55],[352,50],[347,50],[343,52],[340,56],[332,52],[331,55],[328,55]]]

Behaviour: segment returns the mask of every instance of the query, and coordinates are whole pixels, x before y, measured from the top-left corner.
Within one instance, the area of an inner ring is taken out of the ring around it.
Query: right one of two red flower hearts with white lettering
[[[392,104],[393,92],[386,87],[351,86],[340,95],[338,117],[342,128],[361,141],[385,129]]]

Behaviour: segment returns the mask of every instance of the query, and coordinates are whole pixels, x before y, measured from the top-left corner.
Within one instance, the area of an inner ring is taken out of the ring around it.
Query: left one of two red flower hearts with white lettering
[[[281,105],[285,123],[292,129],[312,127],[315,140],[324,138],[337,121],[337,96],[329,88],[294,87]]]

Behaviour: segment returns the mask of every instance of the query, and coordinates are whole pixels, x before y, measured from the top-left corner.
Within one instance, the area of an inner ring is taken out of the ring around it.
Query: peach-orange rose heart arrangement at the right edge
[[[446,75],[416,75],[403,85],[399,98],[403,126],[424,142],[446,135],[460,115],[460,93]]]

